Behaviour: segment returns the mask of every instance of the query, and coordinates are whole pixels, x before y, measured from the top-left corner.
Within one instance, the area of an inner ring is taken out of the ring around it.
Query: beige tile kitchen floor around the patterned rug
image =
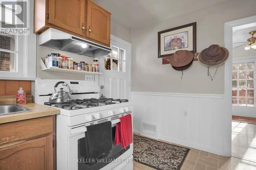
[[[174,144],[174,143],[171,143]],[[234,157],[224,157],[190,148],[181,170],[256,170],[256,163]],[[134,170],[154,170],[135,162]]]

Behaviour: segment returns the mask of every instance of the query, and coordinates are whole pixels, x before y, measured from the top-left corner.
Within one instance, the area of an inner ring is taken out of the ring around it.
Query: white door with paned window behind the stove
[[[99,59],[100,93],[106,98],[131,99],[131,43],[111,36],[112,53]]]

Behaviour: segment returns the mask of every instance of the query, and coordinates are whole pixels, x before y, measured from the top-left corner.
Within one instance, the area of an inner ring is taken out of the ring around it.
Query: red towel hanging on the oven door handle
[[[126,148],[133,142],[132,116],[127,114],[120,117],[120,123],[116,124],[115,144],[122,144],[122,148]]]

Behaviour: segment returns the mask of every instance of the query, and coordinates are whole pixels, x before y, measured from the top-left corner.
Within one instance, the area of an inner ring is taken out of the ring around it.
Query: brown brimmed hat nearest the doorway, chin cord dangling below
[[[223,64],[228,58],[228,50],[217,44],[205,48],[198,57],[198,61],[207,66],[217,66]]]

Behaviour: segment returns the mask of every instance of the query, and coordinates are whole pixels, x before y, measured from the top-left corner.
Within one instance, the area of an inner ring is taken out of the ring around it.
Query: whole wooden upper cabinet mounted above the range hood
[[[110,16],[91,0],[34,0],[34,33],[54,28],[110,46]]]

